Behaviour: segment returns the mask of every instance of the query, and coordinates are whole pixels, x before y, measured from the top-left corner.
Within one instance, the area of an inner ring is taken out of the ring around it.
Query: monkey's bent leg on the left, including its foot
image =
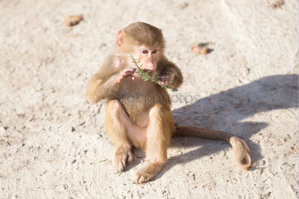
[[[118,171],[123,171],[126,168],[126,163],[132,164],[134,162],[132,144],[127,134],[129,123],[132,122],[120,102],[110,100],[106,106],[105,126],[112,141],[117,146],[114,165]]]

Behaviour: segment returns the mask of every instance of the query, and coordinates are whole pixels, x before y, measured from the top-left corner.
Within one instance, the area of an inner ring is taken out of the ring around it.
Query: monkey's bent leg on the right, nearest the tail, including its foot
[[[138,170],[135,183],[147,182],[161,171],[167,161],[167,146],[174,130],[171,113],[161,105],[155,105],[149,111],[149,125],[146,131],[146,154],[150,162]]]

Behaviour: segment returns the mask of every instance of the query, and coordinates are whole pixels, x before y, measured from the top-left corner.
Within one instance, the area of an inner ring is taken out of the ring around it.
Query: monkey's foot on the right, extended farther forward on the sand
[[[157,173],[159,173],[164,166],[164,163],[151,162],[143,168],[139,169],[135,175],[135,184],[142,184],[151,180]]]

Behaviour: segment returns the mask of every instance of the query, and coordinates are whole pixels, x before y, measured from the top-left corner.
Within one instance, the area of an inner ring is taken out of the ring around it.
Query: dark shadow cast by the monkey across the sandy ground
[[[255,80],[246,85],[231,88],[202,98],[173,110],[174,122],[182,126],[197,126],[227,131],[242,138],[251,150],[252,162],[262,159],[260,146],[249,139],[269,124],[263,122],[241,122],[254,114],[274,109],[298,107],[298,75],[274,75]],[[211,155],[229,147],[225,141],[209,140],[199,137],[174,137],[170,147],[196,147],[198,149],[169,158],[164,169],[157,175],[161,177],[176,164],[184,164]],[[186,159],[187,157],[187,159]]]

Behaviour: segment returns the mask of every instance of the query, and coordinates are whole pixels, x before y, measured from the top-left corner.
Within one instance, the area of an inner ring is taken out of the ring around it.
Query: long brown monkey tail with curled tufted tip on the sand
[[[231,144],[235,153],[235,160],[241,169],[248,169],[251,164],[250,150],[247,144],[234,134],[214,131],[206,128],[197,128],[191,126],[176,126],[174,136],[196,136],[216,140],[225,140]]]

